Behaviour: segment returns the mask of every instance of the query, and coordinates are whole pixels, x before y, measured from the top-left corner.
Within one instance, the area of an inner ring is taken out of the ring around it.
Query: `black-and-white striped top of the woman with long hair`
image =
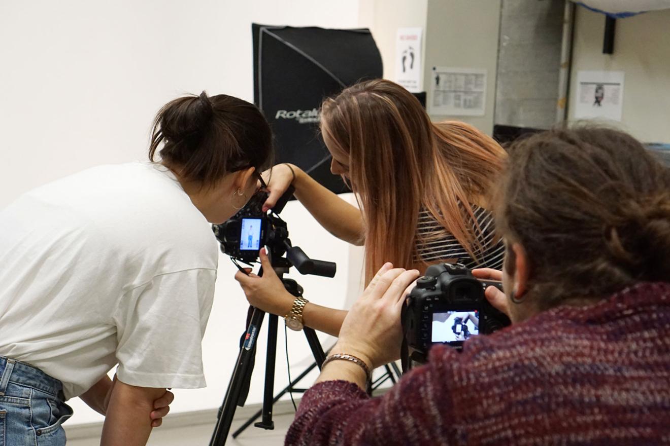
[[[465,213],[464,209],[463,212]],[[478,259],[473,259],[463,245],[458,243],[456,237],[435,220],[435,217],[427,209],[423,209],[419,212],[417,248],[414,261],[436,263],[446,259],[457,259],[469,269],[502,269],[505,245],[502,243],[502,239],[496,236],[492,213],[476,205],[472,205],[472,213],[477,225],[469,216],[468,223],[472,225],[472,230],[477,234],[477,239],[483,247],[483,253],[476,252]]]

